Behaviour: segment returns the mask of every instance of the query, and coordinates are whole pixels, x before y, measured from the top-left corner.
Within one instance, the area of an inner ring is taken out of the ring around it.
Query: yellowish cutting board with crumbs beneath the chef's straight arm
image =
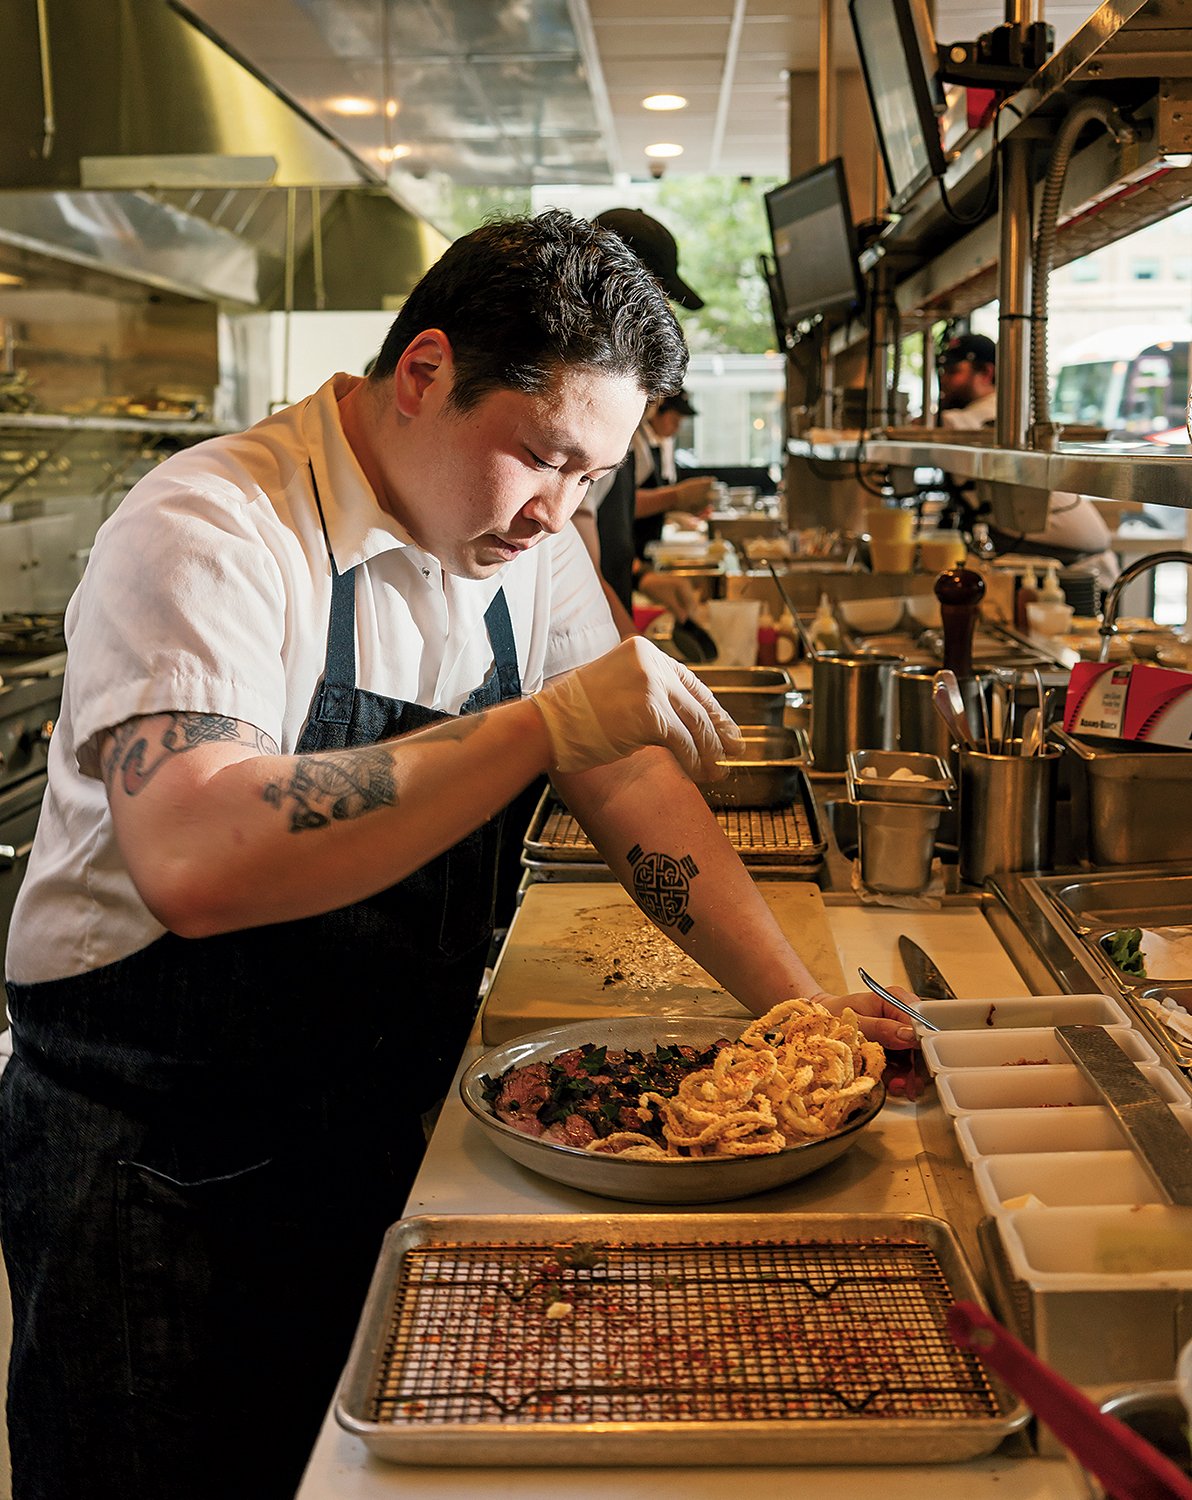
[[[819,984],[844,974],[817,886],[757,880],[792,946]],[[487,1046],[606,1016],[748,1012],[609,882],[531,885],[514,916],[481,1011]]]

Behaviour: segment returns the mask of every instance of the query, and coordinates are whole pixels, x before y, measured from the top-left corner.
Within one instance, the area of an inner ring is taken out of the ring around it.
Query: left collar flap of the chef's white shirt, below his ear
[[[358,375],[333,375],[303,402],[301,412],[301,432],[315,472],[327,544],[340,573],[382,552],[414,546],[405,526],[378,504],[343,435],[339,398],[360,382]]]

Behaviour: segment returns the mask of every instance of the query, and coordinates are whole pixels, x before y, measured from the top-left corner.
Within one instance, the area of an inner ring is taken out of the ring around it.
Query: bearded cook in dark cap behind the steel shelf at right
[[[945,345],[939,360],[940,423],[972,432],[997,420],[997,345],[984,333],[963,333]],[[1053,558],[1062,567],[1095,568],[1108,588],[1122,564],[1113,550],[1113,532],[1087,495],[1054,490],[1048,496],[1042,531],[1003,531],[990,525],[996,550]]]

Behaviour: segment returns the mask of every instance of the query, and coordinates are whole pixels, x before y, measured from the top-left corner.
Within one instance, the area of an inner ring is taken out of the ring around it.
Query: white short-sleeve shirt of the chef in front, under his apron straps
[[[66,614],[10,980],[102,968],[162,934],[112,836],[99,736],[139,714],[222,714],[294,752],[327,654],[328,543],[340,572],[355,568],[357,686],[385,698],[457,712],[492,668],[484,610],[499,588],[525,693],[618,644],[574,526],[487,579],[444,574],[414,546],[343,436],[337,398],[354,380],[336,375],[247,432],[175,454],[100,528]]]

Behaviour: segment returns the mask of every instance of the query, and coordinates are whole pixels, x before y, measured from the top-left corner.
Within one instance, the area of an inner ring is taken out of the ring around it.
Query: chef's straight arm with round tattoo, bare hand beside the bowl
[[[762,1016],[790,996],[814,996],[873,1017],[864,1028],[883,1046],[913,1040],[871,992],[822,992],[796,952],[799,934],[783,933],[703,794],[666,752],[639,750],[555,783],[646,916],[747,1010]]]

